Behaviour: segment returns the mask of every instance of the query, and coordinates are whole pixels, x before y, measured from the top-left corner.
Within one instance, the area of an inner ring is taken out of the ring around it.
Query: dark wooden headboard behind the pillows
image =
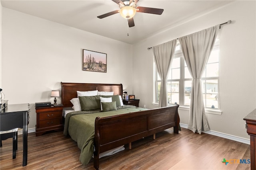
[[[76,91],[98,90],[99,92],[114,92],[114,95],[123,93],[122,84],[96,84],[96,83],[61,83],[61,101],[64,107],[72,107],[70,100],[77,98]]]

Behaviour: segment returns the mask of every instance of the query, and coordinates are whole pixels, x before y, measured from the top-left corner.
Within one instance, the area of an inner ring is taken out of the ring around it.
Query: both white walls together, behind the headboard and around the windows
[[[0,86],[9,104],[31,104],[29,128],[36,124],[34,103],[53,102],[50,91],[60,89],[60,82],[122,83],[140,106],[154,108],[153,56],[147,48],[232,20],[219,32],[222,115],[206,116],[212,131],[249,139],[243,117],[256,107],[255,6],[236,1],[134,45],[1,6]],[[107,53],[107,73],[82,71],[82,49]],[[188,124],[188,111],[179,113]]]

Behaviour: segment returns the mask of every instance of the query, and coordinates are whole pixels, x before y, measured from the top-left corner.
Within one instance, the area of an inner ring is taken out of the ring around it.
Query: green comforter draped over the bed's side
[[[108,117],[142,110],[146,109],[124,105],[118,110],[107,112],[100,112],[100,110],[74,111],[66,115],[64,135],[70,135],[77,142],[78,148],[81,149],[79,160],[82,164],[86,165],[92,158],[94,152],[94,123],[96,117]]]

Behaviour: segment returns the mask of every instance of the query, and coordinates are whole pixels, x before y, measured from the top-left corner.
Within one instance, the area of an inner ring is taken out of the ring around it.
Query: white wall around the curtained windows
[[[208,27],[222,26],[220,39],[220,109],[222,115],[206,114],[210,129],[249,139],[245,117],[256,108],[256,2],[236,1],[204,16],[172,27],[133,45],[136,98],[140,106],[154,108],[153,55],[148,47],[158,45]],[[145,64],[146,63],[146,64]],[[180,121],[188,124],[188,111],[179,109]]]

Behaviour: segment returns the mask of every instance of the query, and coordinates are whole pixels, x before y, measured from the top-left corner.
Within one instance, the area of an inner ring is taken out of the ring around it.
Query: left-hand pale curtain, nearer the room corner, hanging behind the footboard
[[[174,39],[172,41],[152,47],[156,62],[156,69],[161,78],[158,107],[168,106],[167,77],[170,65],[172,63],[172,57],[175,53],[176,43],[177,39]]]

